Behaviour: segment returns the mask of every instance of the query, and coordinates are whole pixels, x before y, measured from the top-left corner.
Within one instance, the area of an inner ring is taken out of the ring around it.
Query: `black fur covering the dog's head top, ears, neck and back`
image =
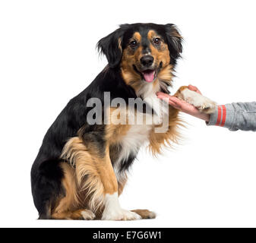
[[[100,39],[97,44],[98,49],[106,55],[109,65],[84,91],[71,99],[58,115],[46,132],[43,144],[33,163],[31,169],[32,194],[40,219],[49,219],[49,208],[54,207],[55,198],[59,195],[65,195],[61,185],[63,172],[59,166],[59,163],[63,163],[63,161],[59,158],[68,138],[77,136],[77,132],[80,130],[84,140],[96,140],[103,153],[106,142],[103,139],[104,125],[87,124],[87,112],[92,109],[87,107],[87,100],[96,97],[103,103],[103,93],[107,91],[110,92],[111,99],[122,97],[128,102],[128,98],[137,98],[134,90],[125,84],[120,72],[122,49],[128,45],[128,39],[131,38],[134,31],[147,33],[150,29],[156,30],[168,43],[171,63],[175,65],[175,58],[179,57],[182,47],[181,43],[177,43],[177,39],[172,40],[171,28],[173,25],[124,24],[118,30]],[[119,48],[119,41],[122,49]],[[119,148],[116,147],[112,149],[119,151]],[[112,152],[110,151],[111,154],[114,154]],[[122,161],[121,169],[128,169],[133,161],[134,156]],[[112,163],[115,163],[113,156]]]

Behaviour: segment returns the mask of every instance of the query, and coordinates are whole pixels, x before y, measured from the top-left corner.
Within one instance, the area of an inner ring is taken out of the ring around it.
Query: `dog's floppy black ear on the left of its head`
[[[122,59],[122,37],[125,25],[121,25],[119,29],[110,33],[108,36],[100,39],[97,48],[100,53],[106,55],[109,62],[109,68],[115,68]]]

